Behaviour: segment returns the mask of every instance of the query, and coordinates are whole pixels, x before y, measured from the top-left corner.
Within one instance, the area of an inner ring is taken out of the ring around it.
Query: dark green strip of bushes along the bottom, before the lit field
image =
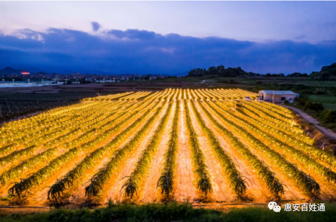
[[[114,204],[101,209],[56,209],[46,213],[0,215],[1,222],[331,222],[336,221],[336,204],[327,203],[324,212],[279,213],[267,206],[233,208],[228,212],[194,208],[189,203],[178,204]]]

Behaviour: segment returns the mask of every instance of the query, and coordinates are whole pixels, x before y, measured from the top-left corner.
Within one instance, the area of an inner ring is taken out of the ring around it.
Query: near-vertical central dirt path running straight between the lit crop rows
[[[178,131],[178,150],[177,150],[177,184],[175,192],[175,200],[178,202],[195,202],[197,199],[195,187],[192,184],[192,161],[191,153],[188,149],[188,136],[186,117],[184,113],[183,103],[180,105],[179,116],[179,131]]]

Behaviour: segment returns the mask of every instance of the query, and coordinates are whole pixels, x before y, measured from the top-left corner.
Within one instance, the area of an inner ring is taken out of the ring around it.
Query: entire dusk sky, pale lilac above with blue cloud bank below
[[[0,1],[0,66],[177,74],[336,62],[335,1]]]

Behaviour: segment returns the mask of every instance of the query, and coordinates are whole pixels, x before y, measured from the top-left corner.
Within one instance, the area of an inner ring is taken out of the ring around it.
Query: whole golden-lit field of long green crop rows
[[[331,200],[336,158],[243,90],[126,92],[0,128],[0,195],[26,204]]]

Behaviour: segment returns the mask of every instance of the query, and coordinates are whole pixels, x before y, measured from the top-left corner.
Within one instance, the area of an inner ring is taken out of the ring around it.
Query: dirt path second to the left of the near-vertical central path
[[[114,185],[111,187],[111,189],[107,192],[104,203],[107,203],[109,199],[112,201],[123,201],[125,190],[122,189],[122,186],[127,181],[126,176],[129,176],[131,172],[134,170],[134,166],[136,164],[137,159],[141,155],[141,152],[144,148],[146,148],[147,143],[149,139],[151,138],[152,134],[154,133],[156,127],[159,125],[160,120],[164,116],[168,109],[168,104],[163,108],[163,111],[159,114],[157,117],[157,121],[154,122],[154,124],[147,130],[145,138],[142,140],[140,145],[138,145],[134,150],[135,152],[132,152],[130,154],[130,157],[126,160],[125,166],[122,168],[121,172],[118,174],[117,181],[114,183]],[[103,200],[102,199],[102,200]]]

